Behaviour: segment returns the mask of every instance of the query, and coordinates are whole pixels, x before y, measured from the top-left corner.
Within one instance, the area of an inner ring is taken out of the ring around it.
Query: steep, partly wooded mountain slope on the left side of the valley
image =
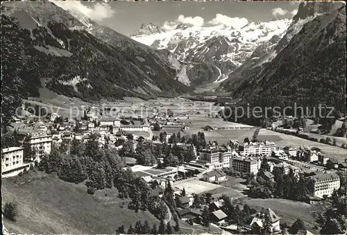
[[[49,1],[6,2],[1,13],[13,14],[26,28],[30,52],[40,58],[41,78],[54,92],[99,100],[189,91],[178,81],[181,68],[168,56],[90,19],[83,24]]]

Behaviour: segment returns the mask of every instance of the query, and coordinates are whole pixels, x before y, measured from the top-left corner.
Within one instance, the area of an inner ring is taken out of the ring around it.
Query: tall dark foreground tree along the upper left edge
[[[28,37],[30,32],[17,19],[1,15],[1,133],[22,106],[22,98],[39,95],[39,59],[29,53]]]

